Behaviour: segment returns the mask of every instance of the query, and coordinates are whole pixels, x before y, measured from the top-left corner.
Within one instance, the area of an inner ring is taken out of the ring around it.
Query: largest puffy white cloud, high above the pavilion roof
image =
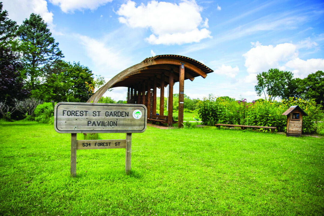
[[[150,28],[152,33],[146,40],[151,44],[183,44],[211,38],[203,21],[202,8],[194,0],[183,0],[177,4],[151,1],[147,5],[128,1],[121,5],[117,14],[119,21],[131,28]],[[206,28],[199,29],[199,26]]]

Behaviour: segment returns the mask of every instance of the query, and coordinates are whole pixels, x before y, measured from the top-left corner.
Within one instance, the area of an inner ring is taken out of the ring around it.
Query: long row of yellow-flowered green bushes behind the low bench
[[[303,133],[316,133],[321,130],[318,122],[323,120],[323,110],[314,99],[289,98],[282,102],[259,99],[248,103],[246,99],[233,101],[226,97],[216,98],[209,95],[199,102],[198,114],[204,125],[221,123],[268,126],[277,127],[277,131],[285,132],[287,117],[282,113],[293,105],[298,105],[308,114],[303,117]]]

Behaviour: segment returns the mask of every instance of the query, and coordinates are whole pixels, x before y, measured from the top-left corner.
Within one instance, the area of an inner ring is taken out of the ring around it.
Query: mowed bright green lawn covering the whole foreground
[[[133,133],[131,175],[124,149],[78,150],[71,178],[70,137],[0,122],[0,215],[324,214],[321,138],[148,127]]]

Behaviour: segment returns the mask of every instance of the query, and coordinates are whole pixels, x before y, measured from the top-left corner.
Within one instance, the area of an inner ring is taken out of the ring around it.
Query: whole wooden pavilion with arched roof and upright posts
[[[164,114],[164,87],[169,85],[168,126],[172,126],[173,85],[179,82],[178,126],[183,126],[184,80],[197,76],[206,78],[213,70],[206,65],[180,55],[157,55],[144,59],[114,76],[102,86],[87,102],[97,103],[110,88],[128,87],[127,103],[144,104],[148,115],[156,115],[156,88],[160,88],[160,113]]]

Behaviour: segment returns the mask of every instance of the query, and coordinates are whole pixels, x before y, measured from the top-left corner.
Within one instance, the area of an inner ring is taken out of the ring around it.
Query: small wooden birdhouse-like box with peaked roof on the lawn
[[[291,106],[282,115],[287,116],[286,136],[301,136],[303,116],[308,116],[299,106]]]

